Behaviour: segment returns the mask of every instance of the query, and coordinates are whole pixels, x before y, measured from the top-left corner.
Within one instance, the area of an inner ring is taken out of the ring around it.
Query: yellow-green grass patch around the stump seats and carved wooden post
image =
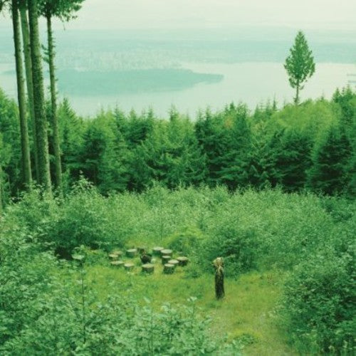
[[[226,297],[218,301],[214,296],[213,273],[191,278],[185,273],[185,267],[177,267],[173,275],[164,275],[158,258],[155,273],[145,275],[138,258],[125,258],[125,261],[135,263],[133,272],[111,267],[105,257],[86,266],[88,283],[98,291],[100,298],[120,293],[142,304],[148,299],[158,310],[164,303],[186,304],[189,297],[195,297],[200,313],[212,319],[211,333],[243,341],[245,355],[297,355],[286,344],[275,318],[284,280],[281,271],[251,272],[237,279],[226,278]]]

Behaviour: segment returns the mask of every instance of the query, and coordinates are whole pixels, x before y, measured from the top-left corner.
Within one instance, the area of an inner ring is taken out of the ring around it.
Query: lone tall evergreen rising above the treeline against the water
[[[289,75],[289,83],[295,88],[295,104],[299,103],[299,91],[304,88],[303,83],[315,72],[315,63],[312,51],[308,47],[304,33],[299,31],[295,37],[294,45],[290,48],[290,55],[284,65]]]

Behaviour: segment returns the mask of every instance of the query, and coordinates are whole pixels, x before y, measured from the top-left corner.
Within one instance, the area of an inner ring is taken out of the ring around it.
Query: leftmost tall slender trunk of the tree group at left
[[[26,184],[26,187],[30,189],[31,180],[32,180],[31,159],[30,159],[30,145],[28,143],[28,127],[27,127],[27,117],[26,117],[26,93],[25,93],[25,85],[23,83],[19,6],[17,0],[11,1],[11,12],[12,12],[12,24],[14,28],[17,98],[19,101],[23,182]]]

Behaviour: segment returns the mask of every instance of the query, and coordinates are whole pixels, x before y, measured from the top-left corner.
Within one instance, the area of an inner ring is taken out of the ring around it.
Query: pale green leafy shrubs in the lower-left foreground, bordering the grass
[[[159,311],[118,293],[100,300],[88,285],[85,248],[59,266],[36,241],[6,234],[0,253],[2,355],[239,355],[238,343],[209,335],[194,298]]]

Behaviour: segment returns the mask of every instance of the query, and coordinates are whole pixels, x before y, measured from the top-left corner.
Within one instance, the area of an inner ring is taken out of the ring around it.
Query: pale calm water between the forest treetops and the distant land
[[[197,83],[179,90],[85,96],[62,92],[61,96],[68,96],[74,110],[84,116],[95,115],[101,108],[118,106],[126,112],[132,108],[140,112],[152,107],[157,115],[166,117],[174,105],[180,112],[194,117],[199,109],[219,110],[232,101],[242,101],[253,109],[274,98],[278,105],[293,100],[294,90],[288,84],[283,63],[182,63],[182,68],[194,73],[220,74],[223,78],[217,83]],[[11,97],[16,95],[15,75],[4,72],[13,69],[11,65],[0,64],[0,88]],[[330,98],[336,88],[348,83],[355,88],[355,73],[355,64],[317,63],[315,74],[305,84],[300,97],[302,100],[321,96]]]

